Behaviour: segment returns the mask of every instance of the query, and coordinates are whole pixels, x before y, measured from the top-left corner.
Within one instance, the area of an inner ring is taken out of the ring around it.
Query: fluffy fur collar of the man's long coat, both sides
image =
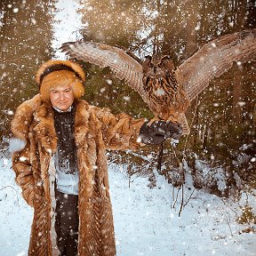
[[[77,100],[75,116],[76,146],[81,146],[89,132],[92,107],[85,100]],[[32,125],[32,122],[35,124]],[[96,127],[95,127],[96,128]],[[95,128],[93,128],[95,130]],[[33,131],[29,131],[32,129]],[[12,134],[20,140],[28,140],[29,132],[36,132],[42,147],[49,153],[56,152],[57,136],[54,128],[54,112],[51,103],[42,103],[40,95],[23,102],[12,120]]]

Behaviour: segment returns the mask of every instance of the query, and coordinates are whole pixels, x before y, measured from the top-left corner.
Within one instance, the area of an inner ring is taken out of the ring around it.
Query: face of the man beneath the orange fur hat
[[[50,92],[50,100],[53,108],[67,111],[73,104],[74,95],[70,85],[58,85]]]

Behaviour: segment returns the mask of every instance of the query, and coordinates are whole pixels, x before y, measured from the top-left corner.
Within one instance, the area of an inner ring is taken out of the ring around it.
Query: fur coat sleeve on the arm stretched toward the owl
[[[103,140],[108,149],[137,149],[143,146],[139,139],[145,119],[133,119],[124,113],[113,115],[108,108],[100,109],[97,116],[102,124]]]

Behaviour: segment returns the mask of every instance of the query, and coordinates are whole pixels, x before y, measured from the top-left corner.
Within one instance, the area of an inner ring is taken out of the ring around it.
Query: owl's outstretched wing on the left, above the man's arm
[[[66,52],[72,59],[84,60],[100,68],[110,68],[118,79],[124,79],[148,104],[147,94],[142,84],[142,66],[124,50],[107,44],[82,41],[62,44],[60,50]]]

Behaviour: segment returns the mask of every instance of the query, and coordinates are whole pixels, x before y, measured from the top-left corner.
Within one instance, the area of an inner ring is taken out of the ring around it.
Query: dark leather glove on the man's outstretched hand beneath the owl
[[[179,140],[180,136],[180,124],[174,124],[170,121],[155,121],[150,125],[146,122],[141,126],[139,134],[141,142],[149,145],[161,144],[169,138]]]

